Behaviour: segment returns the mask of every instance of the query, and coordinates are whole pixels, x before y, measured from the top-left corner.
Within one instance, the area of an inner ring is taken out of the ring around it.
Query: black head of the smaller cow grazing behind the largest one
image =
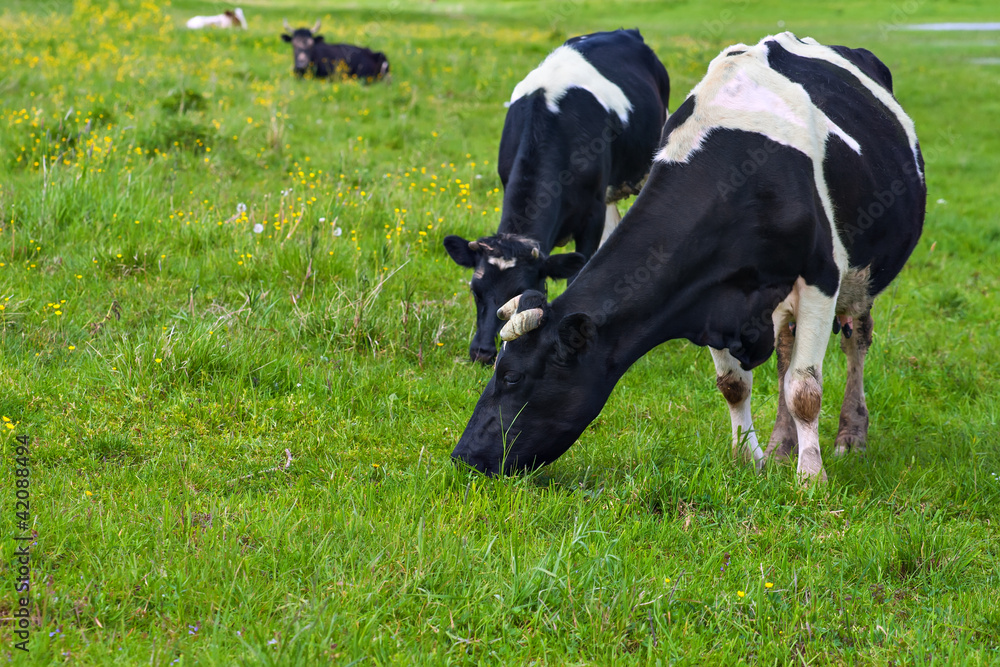
[[[484,364],[492,363],[497,353],[496,337],[503,324],[497,308],[528,290],[545,292],[546,278],[568,278],[587,261],[577,252],[545,255],[536,241],[516,234],[478,241],[448,236],[444,247],[456,264],[474,269],[469,287],[476,301],[476,334],[469,357]]]

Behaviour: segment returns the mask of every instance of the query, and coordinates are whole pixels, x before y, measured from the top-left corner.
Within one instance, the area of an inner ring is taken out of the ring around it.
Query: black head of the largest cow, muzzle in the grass
[[[506,342],[451,453],[488,475],[555,461],[614,388],[589,315],[560,314],[541,292],[526,292],[497,314],[508,319],[500,333]]]

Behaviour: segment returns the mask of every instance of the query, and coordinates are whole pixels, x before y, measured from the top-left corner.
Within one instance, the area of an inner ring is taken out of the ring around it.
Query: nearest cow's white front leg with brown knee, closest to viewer
[[[836,306],[836,295],[827,296],[799,278],[773,315],[776,331],[789,319],[795,320],[795,342],[783,382],[785,403],[799,441],[799,481],[806,484],[826,480],[819,447],[819,413],[823,402],[823,356]]]

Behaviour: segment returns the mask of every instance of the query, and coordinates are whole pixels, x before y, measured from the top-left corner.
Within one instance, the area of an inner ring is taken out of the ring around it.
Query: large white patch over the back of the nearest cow
[[[730,46],[708,66],[705,78],[691,91],[694,111],[674,128],[666,145],[656,154],[660,162],[687,162],[715,129],[762,134],[800,151],[813,163],[813,177],[823,210],[836,226],[833,201],[826,184],[823,159],[829,135],[840,137],[852,150],[861,146],[812,103],[798,83],[771,69],[765,38],[755,46]],[[732,51],[742,51],[730,55]],[[834,232],[833,259],[841,276],[847,271],[847,250]]]

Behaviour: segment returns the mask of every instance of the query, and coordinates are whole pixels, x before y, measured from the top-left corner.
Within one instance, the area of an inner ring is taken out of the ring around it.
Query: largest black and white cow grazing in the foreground
[[[867,437],[872,300],[916,245],[926,192],[913,122],[870,52],[787,32],[729,47],[667,122],[642,193],[573,284],[552,303],[526,292],[501,308],[509,342],[452,456],[490,474],[554,461],[629,366],[686,338],[712,348],[734,453],[760,465],[797,446],[800,479],[824,478],[831,323],[853,325],[841,342],[843,452]],[[776,344],[785,423],[765,454],[751,370]]]

